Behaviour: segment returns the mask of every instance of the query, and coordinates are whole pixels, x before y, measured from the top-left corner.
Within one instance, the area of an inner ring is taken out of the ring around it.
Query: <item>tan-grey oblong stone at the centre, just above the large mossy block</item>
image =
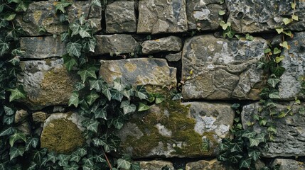
[[[176,68],[168,67],[166,60],[154,58],[128,60],[101,60],[100,76],[112,84],[120,78],[125,84],[176,86]]]

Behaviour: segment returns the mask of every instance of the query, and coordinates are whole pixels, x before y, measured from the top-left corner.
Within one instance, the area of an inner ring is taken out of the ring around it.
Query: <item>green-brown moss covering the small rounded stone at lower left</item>
[[[71,120],[67,119],[50,121],[41,135],[41,147],[46,147],[57,153],[73,152],[77,147],[81,147],[84,142],[80,129]]]

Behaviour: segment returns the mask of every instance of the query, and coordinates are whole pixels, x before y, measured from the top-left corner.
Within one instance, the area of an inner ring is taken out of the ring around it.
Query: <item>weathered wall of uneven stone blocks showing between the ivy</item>
[[[259,92],[267,84],[266,75],[256,69],[256,63],[264,57],[270,40],[277,40],[273,39],[274,28],[291,15],[291,2],[122,0],[108,1],[104,10],[90,8],[90,1],[74,1],[68,7],[68,19],[73,21],[81,13],[90,12],[97,39],[95,53],[90,57],[100,60],[100,77],[105,81],[111,84],[120,77],[127,84],[167,89],[182,84],[181,104],[164,102],[132,116],[118,134],[123,141],[119,152],[145,160],[141,161],[142,169],[166,165],[169,169],[230,169],[215,160],[221,140],[231,137],[235,112],[230,105],[247,103],[241,115],[247,128],[250,115],[259,108]],[[81,118],[67,112],[73,84],[80,78],[65,69],[61,58],[66,50],[60,33],[67,26],[55,14],[56,3],[34,1],[25,14],[17,16],[16,26],[25,31],[20,40],[25,53],[21,56],[18,83],[23,84],[27,98],[20,102],[28,107],[18,113],[30,114],[34,122],[41,123],[41,129],[36,131],[41,135],[42,147],[61,153],[84,141],[77,124]],[[220,10],[226,15],[218,15]],[[288,28],[295,31],[293,40],[287,40],[291,50],[282,52],[286,72],[281,77],[279,96],[286,103],[281,107],[299,95],[298,78],[305,69],[305,1],[297,1],[295,13],[299,21]],[[230,21],[236,33],[255,33],[254,40],[222,38],[219,23],[223,20]],[[304,169],[301,162],[287,160],[305,156],[304,120],[301,114],[279,119],[275,141],[269,143],[262,161],[270,158],[268,162],[275,159],[274,164],[281,163],[282,169]],[[21,129],[26,132],[28,127],[26,122],[23,124]],[[259,126],[254,129],[264,130]],[[61,147],[67,141],[69,147]],[[210,149],[201,149],[205,142]]]

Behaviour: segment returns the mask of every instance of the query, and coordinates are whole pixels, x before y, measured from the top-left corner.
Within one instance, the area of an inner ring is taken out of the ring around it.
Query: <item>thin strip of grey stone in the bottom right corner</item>
[[[275,165],[281,165],[279,167],[279,170],[302,170],[305,169],[305,164],[304,162],[298,162],[293,159],[275,159],[274,162],[272,163],[272,166]]]

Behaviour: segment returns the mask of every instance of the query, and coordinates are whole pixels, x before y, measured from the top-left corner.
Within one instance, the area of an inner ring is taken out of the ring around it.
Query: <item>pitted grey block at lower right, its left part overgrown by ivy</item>
[[[288,105],[277,104],[277,112],[284,111]],[[247,126],[247,122],[254,122],[253,115],[258,114],[259,103],[252,103],[242,108],[242,125],[244,128],[250,128],[258,133],[267,132],[266,127],[261,127],[258,123]],[[263,152],[264,157],[301,157],[305,156],[305,115],[299,113],[302,106],[293,106],[291,113],[284,118],[274,118],[274,126],[277,133],[274,135],[274,142],[268,142],[269,148],[267,152]],[[268,115],[267,115],[268,114]],[[269,118],[269,113],[260,113],[261,116]],[[272,122],[272,120],[267,120]]]

